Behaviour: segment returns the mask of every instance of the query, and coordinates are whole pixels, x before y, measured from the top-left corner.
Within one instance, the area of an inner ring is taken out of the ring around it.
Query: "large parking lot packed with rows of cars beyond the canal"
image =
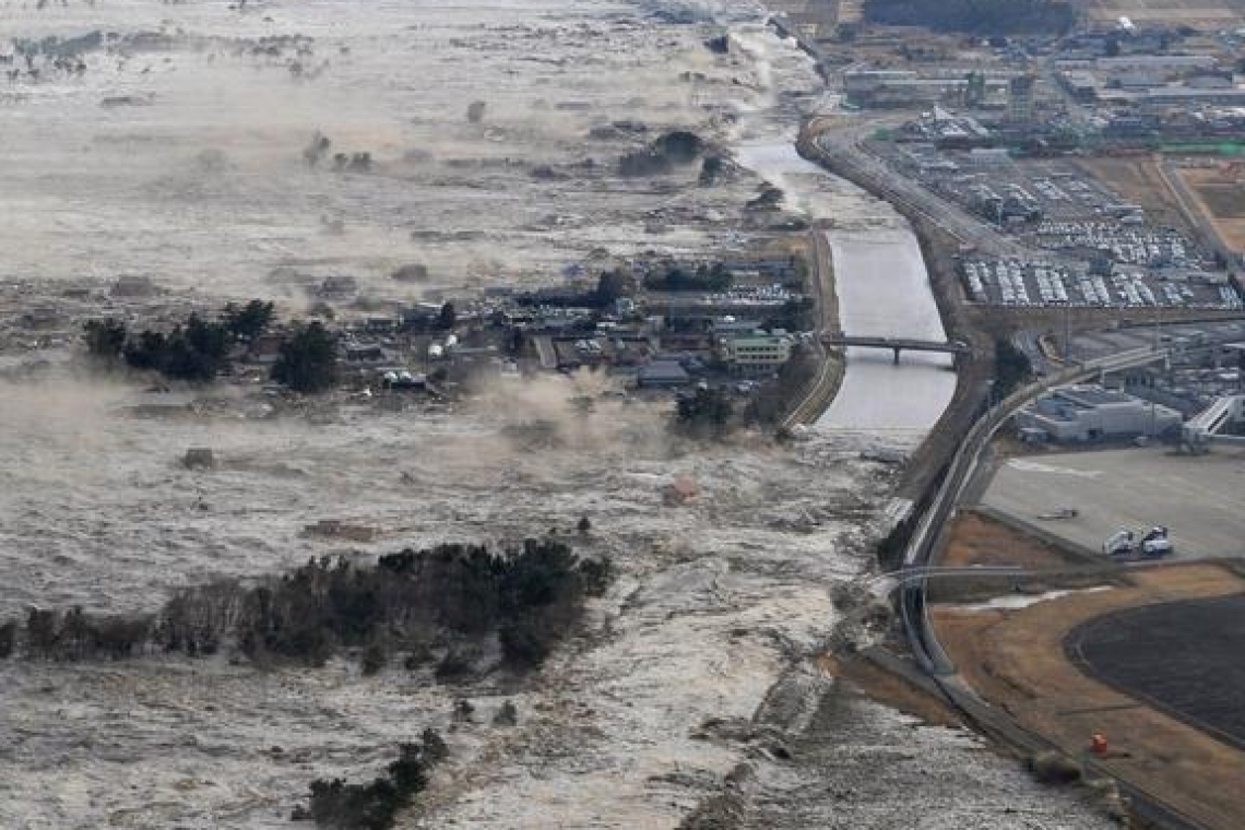
[[[879,143],[874,152],[928,190],[1012,234],[1033,261],[979,259],[961,269],[975,302],[1017,307],[1241,309],[1243,299],[1188,236],[1062,161],[996,148]],[[1050,261],[1038,261],[1048,258]]]

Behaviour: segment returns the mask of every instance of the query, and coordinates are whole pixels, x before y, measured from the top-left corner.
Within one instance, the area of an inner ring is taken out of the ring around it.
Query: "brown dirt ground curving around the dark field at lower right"
[[[1245,815],[1245,754],[1206,733],[1091,679],[1064,655],[1078,625],[1113,611],[1245,590],[1234,571],[1177,565],[1135,571],[1133,585],[1082,591],[1020,610],[937,607],[934,621],[965,679],[1021,724],[1069,754],[1089,737],[1108,737],[1104,762],[1118,778],[1158,795],[1216,830],[1238,830]]]

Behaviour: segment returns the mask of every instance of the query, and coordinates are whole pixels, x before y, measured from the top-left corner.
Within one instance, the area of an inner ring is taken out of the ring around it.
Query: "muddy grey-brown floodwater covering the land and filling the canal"
[[[341,311],[365,315],[564,285],[647,251],[742,255],[763,241],[743,204],[767,183],[842,229],[848,331],[885,319],[933,337],[894,212],[794,157],[820,81],[766,16],[674,0],[0,0],[0,617],[152,612],[187,585],[439,541],[573,535],[618,571],[523,677],[451,686],[397,661],[362,677],[354,660],[228,653],[0,661],[0,828],[289,828],[311,781],[369,781],[428,727],[449,759],[398,828],[674,830],[738,784],[753,799],[741,829],[1103,826],[817,662],[840,622],[832,590],[873,567],[899,477],[849,431],[690,445],[670,437],[669,399],[591,373],[283,407],[261,381],[168,391],[81,360],[87,317],[167,325],[254,296],[298,317],[329,276],[354,277]],[[727,55],[705,46],[722,32]],[[66,41],[72,60],[47,57]],[[674,128],[738,167],[712,185],[695,166],[618,174]],[[324,158],[309,153],[321,138]],[[393,279],[405,265],[425,268]],[[151,296],[113,292],[122,276]],[[867,365],[852,356],[832,413],[884,401],[844,426],[910,445],[952,376],[905,357],[869,381]],[[524,438],[534,422],[548,441]],[[182,465],[194,447],[215,467]],[[669,503],[676,478],[696,498]],[[309,536],[321,520],[375,538]],[[477,714],[452,723],[459,699]],[[514,725],[493,722],[507,702]]]

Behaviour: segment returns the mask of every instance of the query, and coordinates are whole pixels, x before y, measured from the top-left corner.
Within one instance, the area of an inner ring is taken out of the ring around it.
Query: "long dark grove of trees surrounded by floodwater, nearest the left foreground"
[[[580,559],[553,539],[496,551],[466,544],[407,549],[376,565],[312,559],[251,585],[179,591],[153,615],[32,607],[24,621],[0,625],[0,657],[121,660],[149,650],[192,657],[229,650],[260,664],[319,666],[352,650],[366,673],[376,673],[396,651],[430,657],[441,650],[452,663],[496,638],[507,663],[524,669],[575,630],[585,600],[605,590],[610,574],[608,560]]]

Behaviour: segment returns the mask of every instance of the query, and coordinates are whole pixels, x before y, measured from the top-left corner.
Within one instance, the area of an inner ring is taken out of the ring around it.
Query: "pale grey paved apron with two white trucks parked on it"
[[[1005,460],[981,501],[1084,549],[1119,530],[1170,530],[1174,559],[1245,554],[1245,453],[1174,455],[1165,447]],[[1068,519],[1042,519],[1074,508]]]

